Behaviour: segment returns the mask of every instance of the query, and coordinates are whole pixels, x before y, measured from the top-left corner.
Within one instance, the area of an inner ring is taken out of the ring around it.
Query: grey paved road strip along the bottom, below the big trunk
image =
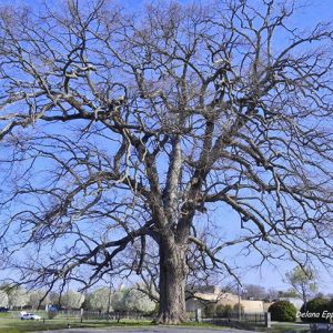
[[[70,329],[70,330],[57,330],[57,331],[42,331],[36,333],[249,333],[251,331],[241,331],[241,330],[215,330],[215,329],[191,329],[191,327],[140,327],[140,329]]]

